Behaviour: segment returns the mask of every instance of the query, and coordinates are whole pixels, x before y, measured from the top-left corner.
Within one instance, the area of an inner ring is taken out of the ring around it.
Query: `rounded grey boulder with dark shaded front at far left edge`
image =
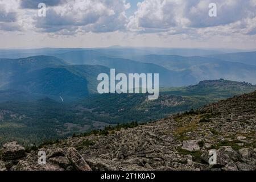
[[[23,158],[24,156],[26,156],[25,148],[17,144],[17,142],[3,144],[3,160],[15,160]]]

